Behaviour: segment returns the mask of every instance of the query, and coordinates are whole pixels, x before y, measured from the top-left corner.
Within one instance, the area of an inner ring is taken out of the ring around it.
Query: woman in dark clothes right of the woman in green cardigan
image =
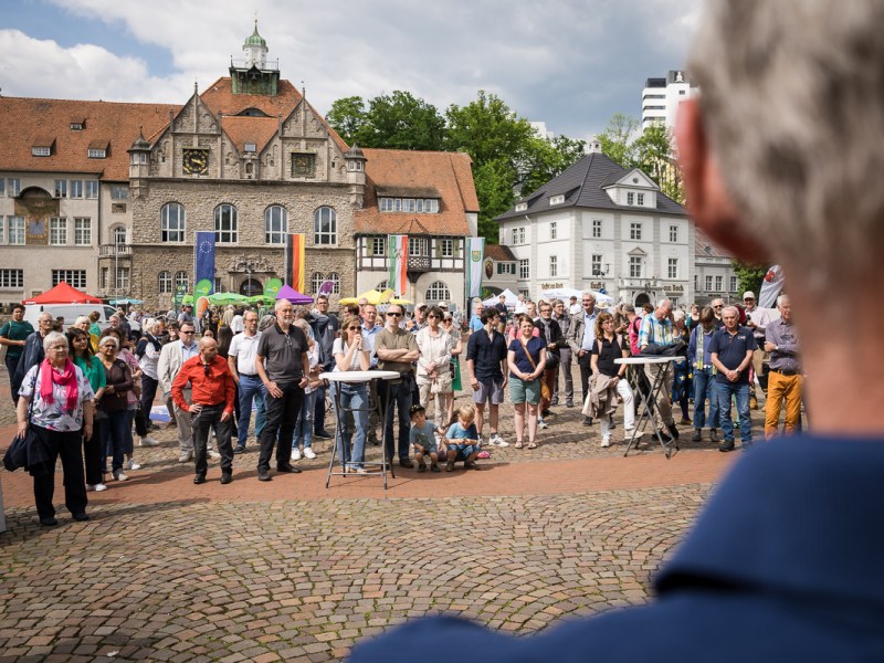
[[[123,472],[124,445],[126,444],[126,423],[129,421],[126,408],[128,393],[133,388],[129,366],[117,357],[119,341],[116,335],[103,336],[98,341],[98,358],[105,370],[106,387],[98,407],[106,419],[102,424],[102,474],[106,469],[106,456],[113,456],[110,475],[115,481],[126,481]],[[104,482],[102,482],[104,483]]]

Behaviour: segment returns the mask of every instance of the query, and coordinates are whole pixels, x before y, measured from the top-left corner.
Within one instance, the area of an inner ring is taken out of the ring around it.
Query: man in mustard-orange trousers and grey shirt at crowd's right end
[[[767,403],[765,403],[765,438],[777,434],[780,411],[786,401],[785,432],[798,432],[801,421],[801,393],[804,378],[798,359],[798,332],[792,324],[792,304],[788,295],[777,298],[780,319],[769,323],[765,332],[765,349],[770,352]]]

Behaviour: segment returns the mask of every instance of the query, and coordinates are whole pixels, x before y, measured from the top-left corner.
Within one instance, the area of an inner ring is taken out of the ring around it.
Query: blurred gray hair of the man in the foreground
[[[690,57],[746,232],[813,292],[884,245],[884,187],[869,186],[884,170],[882,24],[878,0],[708,0]]]

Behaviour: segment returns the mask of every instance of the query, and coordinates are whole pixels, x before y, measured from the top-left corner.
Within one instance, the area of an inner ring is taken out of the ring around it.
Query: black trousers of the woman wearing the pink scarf
[[[86,513],[88,498],[83,476],[82,431],[62,433],[39,425],[34,425],[33,430],[42,440],[51,459],[30,469],[31,476],[34,477],[34,503],[38,515],[41,518],[55,516],[52,498],[55,495],[55,461],[60,455],[64,472],[64,505],[73,515]]]

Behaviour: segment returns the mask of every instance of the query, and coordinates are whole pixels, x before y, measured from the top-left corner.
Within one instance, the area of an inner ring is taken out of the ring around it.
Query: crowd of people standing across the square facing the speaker
[[[507,391],[514,408],[515,449],[537,449],[538,431],[552,424],[562,402],[566,408],[582,403],[583,424],[598,421],[600,446],[610,446],[618,408],[622,404],[622,425],[630,435],[636,403],[653,397],[650,385],[660,371],[664,388],[649,411],[664,442],[678,436],[673,418],[673,407],[678,406],[680,423],[693,425],[694,441],[702,440],[703,429],[708,428],[709,439],[722,451],[730,451],[734,401],[747,448],[756,381],[770,386],[766,434],[777,431],[783,402],[787,432],[800,428],[802,377],[785,296],[776,319],[770,311],[755,306],[751,292],[745,294],[741,307],[715,301],[690,313],[673,311],[669,299],[641,313],[628,304],[604,311],[597,307],[591,292],[583,293],[579,303],[572,298],[570,305],[523,296],[515,312],[503,298],[488,307],[476,301],[465,341],[444,304],[419,304],[410,320],[402,306],[390,304],[378,320],[377,307],[360,302],[339,318],[329,313],[324,295],[313,309],[280,299],[263,316],[230,306],[209,309],[197,320],[186,305],[173,319],[139,316],[140,335],[131,332],[123,311],[112,316],[106,329],[82,317],[66,330],[49,314],[40,316],[34,330],[22,320],[22,312],[15,306],[12,319],[0,328],[20,431],[29,422],[45,430],[40,439],[46,449],[61,453],[56,433],[80,430],[85,472],[65,485],[81,482],[84,491],[105,491],[108,474],[123,482],[127,472],[140,469],[134,441],[137,436],[137,446],[158,444],[150,436],[158,396],[177,429],[178,460],[193,460],[197,484],[207,480],[208,459],[220,461],[222,484],[233,480],[233,456],[246,450],[253,412],[259,481],[273,478],[274,449],[276,472],[298,473],[293,462],[316,457],[313,440],[330,438],[325,430],[326,390],[351,411],[336,425],[336,444],[345,472],[356,474],[367,472],[366,446],[378,443],[379,428],[390,463],[398,460],[407,469],[417,464],[423,472],[429,457],[433,472],[441,471],[440,459],[448,472],[457,462],[464,469],[480,469],[476,461],[488,457],[491,449],[511,444],[499,430],[499,406]],[[617,361],[644,354],[678,354],[685,359],[674,370],[645,365],[644,371],[632,376]],[[768,355],[769,381],[762,372]],[[572,359],[579,371],[579,403]],[[320,378],[325,371],[376,369],[399,377],[379,380],[376,388],[367,381],[329,385]],[[72,389],[80,382],[88,388]],[[71,408],[63,417],[50,383],[66,388]],[[455,411],[455,390],[466,385],[472,403]],[[378,408],[378,402],[385,407]],[[486,410],[488,430],[483,436]],[[385,421],[378,419],[381,411]],[[45,478],[38,477],[54,467],[55,455],[49,454],[45,466],[31,467],[35,495],[38,483],[40,495],[50,490]],[[65,474],[71,457],[62,454]],[[71,499],[72,513],[84,515],[81,498]],[[43,497],[36,501],[41,522],[54,520],[51,504]]]

